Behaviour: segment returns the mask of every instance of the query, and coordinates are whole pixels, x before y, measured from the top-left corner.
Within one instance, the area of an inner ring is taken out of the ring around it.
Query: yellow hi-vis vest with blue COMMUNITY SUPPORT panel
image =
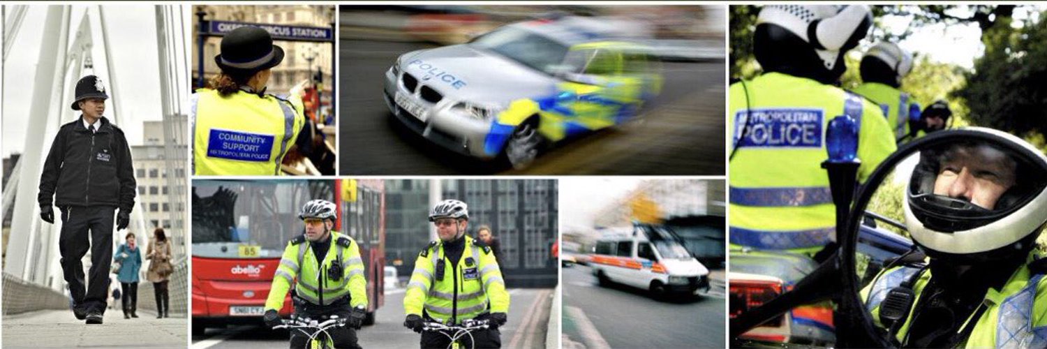
[[[280,163],[306,123],[302,100],[199,89],[190,100],[193,174],[281,175]]]

